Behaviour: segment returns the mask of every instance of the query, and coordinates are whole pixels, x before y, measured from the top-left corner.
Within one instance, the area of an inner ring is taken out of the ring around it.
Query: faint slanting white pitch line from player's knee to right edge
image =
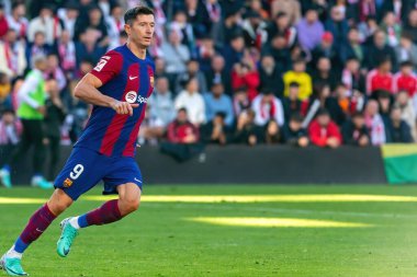
[[[166,204],[156,204],[156,203],[144,203],[145,207],[166,207]],[[227,207],[227,206],[217,206],[217,205],[206,205],[206,204],[172,204],[171,207],[184,208],[205,208],[205,209],[221,209],[221,210],[241,210],[241,211],[270,211],[270,212],[293,212],[298,215],[327,215],[327,216],[350,216],[350,217],[380,217],[380,218],[413,218],[417,219],[417,216],[406,215],[406,213],[373,213],[373,212],[357,212],[357,211],[333,211],[333,210],[306,210],[306,209],[284,209],[284,208],[261,208],[261,207]]]

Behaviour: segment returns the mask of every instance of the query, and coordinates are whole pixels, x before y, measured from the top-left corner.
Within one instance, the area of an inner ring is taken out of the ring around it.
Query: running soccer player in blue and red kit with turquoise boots
[[[66,257],[80,228],[108,224],[135,211],[140,201],[142,174],[134,160],[136,139],[154,90],[155,65],[147,57],[155,28],[153,10],[137,7],[126,11],[127,43],[106,53],[76,86],[76,97],[91,103],[93,111],[71,155],[55,180],[55,192],[29,220],[13,246],[1,257],[10,276],[27,275],[21,258],[53,220],[99,181],[103,194],[119,199],[60,222],[57,253]]]

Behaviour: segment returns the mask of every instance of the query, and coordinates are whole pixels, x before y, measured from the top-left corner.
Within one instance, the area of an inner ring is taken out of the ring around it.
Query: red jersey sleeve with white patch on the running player
[[[122,54],[111,50],[100,58],[99,62],[90,73],[99,78],[100,81],[105,84],[121,72],[122,67]]]

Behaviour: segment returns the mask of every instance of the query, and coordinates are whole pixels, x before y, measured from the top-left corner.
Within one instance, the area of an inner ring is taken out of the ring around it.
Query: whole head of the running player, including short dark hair
[[[147,7],[136,7],[126,11],[124,14],[125,26],[128,39],[142,48],[150,45],[154,30],[154,11]]]

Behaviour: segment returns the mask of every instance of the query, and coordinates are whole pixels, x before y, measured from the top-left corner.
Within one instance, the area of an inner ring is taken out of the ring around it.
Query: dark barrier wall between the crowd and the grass
[[[61,151],[60,165],[70,148]],[[153,184],[386,183],[380,148],[208,147],[204,154],[178,163],[157,148],[142,147],[136,159],[145,183]],[[27,184],[29,169],[29,161],[14,166],[13,182]]]

